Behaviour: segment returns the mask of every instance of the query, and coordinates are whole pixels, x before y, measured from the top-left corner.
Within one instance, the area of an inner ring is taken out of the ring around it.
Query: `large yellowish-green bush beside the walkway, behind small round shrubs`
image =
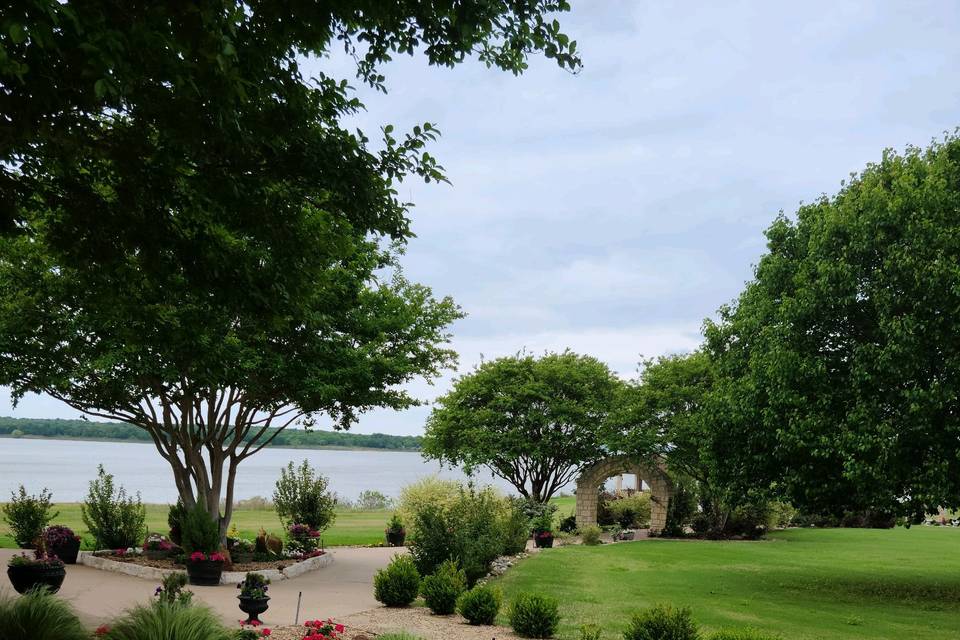
[[[503,554],[500,521],[503,500],[490,488],[461,488],[447,508],[427,505],[415,514],[410,554],[421,575],[429,575],[446,560],[455,560],[467,584],[490,572],[490,564]]]

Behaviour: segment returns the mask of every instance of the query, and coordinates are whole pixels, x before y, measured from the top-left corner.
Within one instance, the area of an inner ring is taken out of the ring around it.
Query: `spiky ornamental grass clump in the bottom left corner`
[[[66,601],[31,589],[19,598],[0,596],[0,638],[89,640],[90,632]]]

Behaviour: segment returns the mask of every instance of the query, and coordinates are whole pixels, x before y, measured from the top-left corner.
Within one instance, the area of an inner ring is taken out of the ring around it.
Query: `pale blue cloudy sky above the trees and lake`
[[[531,60],[520,77],[423,56],[354,82],[376,138],[430,122],[450,185],[400,186],[405,275],[450,295],[458,373],[521,349],[573,351],[624,378],[684,353],[733,301],[783,211],[832,194],[885,148],[960,125],[960,4],[573,0],[559,16],[582,71]],[[350,76],[340,56],[306,70]],[[431,400],[451,372],[412,393]],[[419,434],[429,405],[354,430]],[[51,398],[0,415],[79,417]]]

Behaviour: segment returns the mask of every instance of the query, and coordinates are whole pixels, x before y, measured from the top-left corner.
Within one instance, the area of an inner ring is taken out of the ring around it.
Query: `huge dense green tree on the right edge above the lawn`
[[[960,139],[779,217],[708,323],[720,472],[810,512],[960,506]]]

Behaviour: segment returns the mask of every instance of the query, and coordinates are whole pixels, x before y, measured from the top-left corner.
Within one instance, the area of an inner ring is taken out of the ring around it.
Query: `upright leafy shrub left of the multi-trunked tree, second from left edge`
[[[147,533],[147,510],[140,494],[134,500],[123,487],[114,489],[113,474],[107,473],[102,464],[97,467],[97,477],[90,481],[80,515],[98,549],[138,547]]]

